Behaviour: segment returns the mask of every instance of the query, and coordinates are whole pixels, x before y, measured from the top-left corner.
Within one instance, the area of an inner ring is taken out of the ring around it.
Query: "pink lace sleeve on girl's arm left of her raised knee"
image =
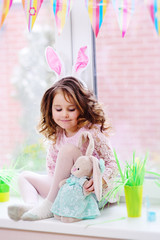
[[[47,156],[46,156],[46,168],[49,175],[54,174],[57,155],[58,155],[58,150],[56,149],[56,145],[53,145],[53,143],[49,143]]]

